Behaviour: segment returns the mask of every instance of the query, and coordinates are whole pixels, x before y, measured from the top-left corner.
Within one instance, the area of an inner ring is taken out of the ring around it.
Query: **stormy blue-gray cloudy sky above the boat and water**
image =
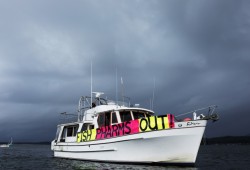
[[[156,114],[212,104],[206,136],[248,135],[250,1],[0,1],[0,141],[50,141],[93,90]],[[120,87],[119,87],[120,89]]]

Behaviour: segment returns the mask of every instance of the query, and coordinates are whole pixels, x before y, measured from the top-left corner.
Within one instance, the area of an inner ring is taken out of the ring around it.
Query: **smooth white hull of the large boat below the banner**
[[[194,164],[206,120],[176,122],[175,128],[89,142],[52,142],[55,157],[119,162]]]

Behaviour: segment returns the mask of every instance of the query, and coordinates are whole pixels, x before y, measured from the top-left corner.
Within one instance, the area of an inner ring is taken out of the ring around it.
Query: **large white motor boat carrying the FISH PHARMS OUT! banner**
[[[101,94],[81,97],[78,120],[57,126],[51,142],[54,157],[194,165],[207,121],[218,119],[216,106],[208,107],[208,115],[198,115],[203,110],[198,109],[192,118],[177,120],[172,114],[155,116],[139,105],[105,100]]]

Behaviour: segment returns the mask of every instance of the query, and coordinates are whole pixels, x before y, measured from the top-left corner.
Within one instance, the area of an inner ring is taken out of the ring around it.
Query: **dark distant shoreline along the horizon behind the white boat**
[[[6,142],[0,142],[6,144]],[[15,142],[13,144],[36,144],[36,145],[50,145],[51,142]],[[215,138],[203,138],[201,144],[250,144],[250,136],[223,136]]]

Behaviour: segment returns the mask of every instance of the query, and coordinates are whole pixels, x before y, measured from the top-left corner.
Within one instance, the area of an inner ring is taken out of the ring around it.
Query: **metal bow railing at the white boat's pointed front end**
[[[199,120],[199,119],[216,121],[219,119],[218,114],[214,113],[217,107],[218,106],[216,105],[211,105],[211,106],[195,109],[193,111],[178,114],[175,116],[175,118],[177,121],[183,121],[183,120],[188,121],[188,120]]]

